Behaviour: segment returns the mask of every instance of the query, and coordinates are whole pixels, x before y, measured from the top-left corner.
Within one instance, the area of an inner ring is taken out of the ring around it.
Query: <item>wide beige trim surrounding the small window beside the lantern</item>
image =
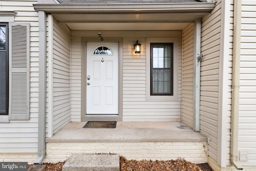
[[[173,43],[173,95],[150,95],[150,43]],[[178,101],[178,38],[146,38],[146,101]]]

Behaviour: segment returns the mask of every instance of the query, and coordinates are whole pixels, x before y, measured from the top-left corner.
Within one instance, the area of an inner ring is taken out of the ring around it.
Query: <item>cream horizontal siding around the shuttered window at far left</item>
[[[14,22],[30,23],[30,120],[0,123],[1,153],[37,153],[38,141],[38,13],[37,1],[1,1],[2,11],[16,11]]]

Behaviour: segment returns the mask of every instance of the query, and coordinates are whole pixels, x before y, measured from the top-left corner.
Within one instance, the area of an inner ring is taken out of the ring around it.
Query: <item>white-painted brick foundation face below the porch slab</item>
[[[126,159],[170,160],[184,158],[192,163],[206,163],[206,143],[203,142],[88,142],[47,143],[44,162],[65,161],[71,154],[119,154]]]

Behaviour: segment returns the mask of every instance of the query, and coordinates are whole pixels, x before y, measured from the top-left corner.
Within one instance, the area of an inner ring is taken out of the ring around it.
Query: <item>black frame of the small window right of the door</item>
[[[170,46],[170,68],[153,68],[153,46]],[[150,95],[173,95],[173,43],[150,43]],[[153,93],[153,70],[170,70],[170,93]]]

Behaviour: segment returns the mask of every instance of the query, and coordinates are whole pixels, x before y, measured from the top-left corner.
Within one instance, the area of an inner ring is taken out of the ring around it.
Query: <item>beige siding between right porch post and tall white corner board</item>
[[[220,55],[221,2],[210,15],[202,18],[201,78],[200,78],[200,131],[210,137],[208,155],[217,161],[218,139],[218,78]]]

